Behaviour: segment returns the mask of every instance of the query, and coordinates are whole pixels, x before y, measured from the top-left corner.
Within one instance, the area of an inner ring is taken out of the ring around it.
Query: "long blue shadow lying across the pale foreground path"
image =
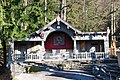
[[[96,80],[94,76],[82,71],[50,71],[52,74],[46,76],[61,77],[71,80]]]

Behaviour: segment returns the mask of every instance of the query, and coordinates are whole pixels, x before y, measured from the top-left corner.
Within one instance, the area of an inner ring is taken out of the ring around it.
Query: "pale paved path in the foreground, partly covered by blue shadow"
[[[21,73],[16,75],[17,80],[96,80],[94,76],[80,71],[42,71],[38,73]]]

